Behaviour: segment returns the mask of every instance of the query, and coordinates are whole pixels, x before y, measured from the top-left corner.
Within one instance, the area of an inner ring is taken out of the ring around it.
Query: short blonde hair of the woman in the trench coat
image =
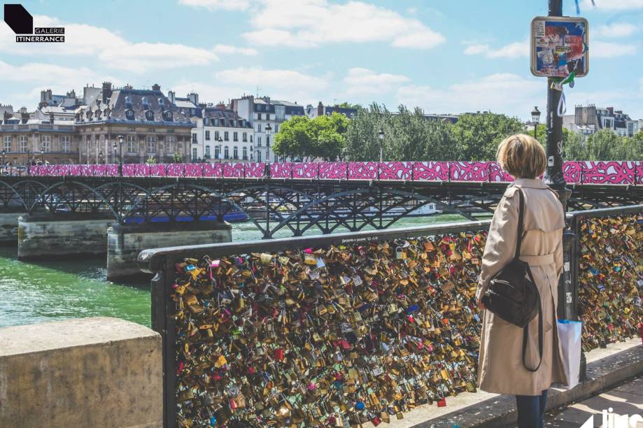
[[[498,145],[500,167],[514,178],[537,178],[547,167],[547,156],[536,138],[515,134]]]

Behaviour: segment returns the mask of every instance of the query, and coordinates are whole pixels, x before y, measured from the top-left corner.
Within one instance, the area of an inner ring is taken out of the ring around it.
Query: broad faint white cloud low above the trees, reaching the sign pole
[[[535,104],[545,104],[545,90],[544,82],[537,78],[496,73],[448,87],[402,86],[397,90],[397,101],[419,106],[427,113],[491,110],[523,117]]]

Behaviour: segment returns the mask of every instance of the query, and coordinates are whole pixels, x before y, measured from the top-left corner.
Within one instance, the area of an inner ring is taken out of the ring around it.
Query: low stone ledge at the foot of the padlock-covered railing
[[[596,392],[643,374],[641,338],[612,343],[606,349],[595,349],[588,352],[586,358],[589,379],[572,390],[550,388],[548,408],[558,408],[567,403],[587,399]],[[391,420],[389,426],[393,428],[511,426],[516,418],[515,410],[516,399],[513,396],[483,391],[465,392],[456,397],[446,397],[446,407],[438,408],[435,404],[418,406],[413,411],[404,413],[404,419],[395,420],[395,422]],[[371,425],[365,425],[367,426]]]

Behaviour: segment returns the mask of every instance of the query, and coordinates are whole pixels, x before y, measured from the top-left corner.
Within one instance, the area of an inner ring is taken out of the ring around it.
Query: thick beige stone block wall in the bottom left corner
[[[116,318],[0,329],[0,427],[162,427],[159,334]]]

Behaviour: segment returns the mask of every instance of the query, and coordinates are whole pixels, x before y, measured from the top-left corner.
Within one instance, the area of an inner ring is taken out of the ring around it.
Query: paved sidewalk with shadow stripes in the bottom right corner
[[[609,409],[612,411],[609,411]],[[593,415],[593,425],[601,427],[603,422],[602,411],[607,410],[616,415],[642,415],[643,416],[643,376],[629,380],[612,390],[602,392],[594,397],[558,408],[547,413],[546,427],[551,428],[577,428],[583,425]],[[610,422],[612,416],[610,415]],[[620,420],[619,420],[620,422]],[[615,427],[622,424],[616,422]],[[622,425],[626,427],[626,425]],[[637,423],[637,428],[643,428],[643,422]]]

